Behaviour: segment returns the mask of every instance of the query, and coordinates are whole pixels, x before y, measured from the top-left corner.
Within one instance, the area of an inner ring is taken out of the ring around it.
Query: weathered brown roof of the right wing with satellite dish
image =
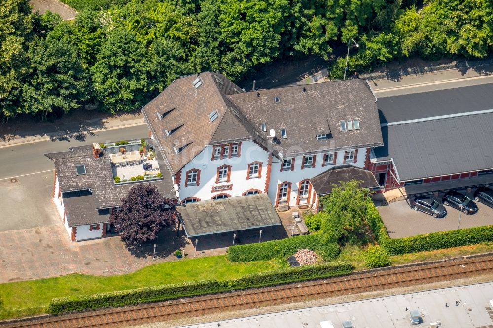
[[[270,129],[281,138],[281,128],[286,128],[287,138],[274,145],[284,156],[383,144],[375,97],[364,80],[259,90],[227,98],[257,131],[261,123],[267,125],[262,133],[266,140]],[[359,130],[340,130],[339,121],[356,118]],[[328,139],[316,138],[329,133]]]

